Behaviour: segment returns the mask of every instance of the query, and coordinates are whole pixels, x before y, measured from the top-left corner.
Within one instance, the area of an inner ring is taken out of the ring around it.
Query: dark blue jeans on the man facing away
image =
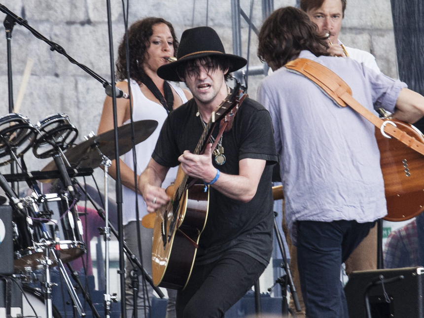
[[[374,224],[297,221],[297,260],[308,318],[349,318],[340,266]]]

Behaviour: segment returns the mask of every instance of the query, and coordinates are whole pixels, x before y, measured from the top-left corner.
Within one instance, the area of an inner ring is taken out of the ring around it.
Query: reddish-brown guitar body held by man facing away
[[[424,142],[424,135],[413,125],[389,118],[397,128]],[[404,221],[424,210],[424,156],[402,142],[385,138],[376,129],[387,201],[388,221]]]

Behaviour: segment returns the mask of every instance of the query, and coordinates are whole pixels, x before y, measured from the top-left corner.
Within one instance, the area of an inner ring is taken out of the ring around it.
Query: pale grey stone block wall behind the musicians
[[[130,22],[146,16],[161,16],[174,24],[178,37],[186,28],[206,24],[205,0],[130,2]],[[248,14],[250,1],[240,2]],[[75,60],[110,81],[106,0],[1,0],[1,3],[27,19],[42,35],[61,45]],[[124,33],[122,4],[119,0],[111,0],[111,4],[116,52],[117,44]],[[295,4],[295,0],[275,0],[274,7]],[[262,19],[261,2],[256,0],[254,5],[253,22],[259,28]],[[3,20],[4,17],[0,12],[0,19]],[[391,21],[389,0],[349,0],[340,38],[348,46],[372,52],[382,71],[396,77]],[[215,28],[221,36],[227,52],[232,52],[230,0],[209,1],[208,25]],[[6,40],[2,25],[0,35],[0,114],[7,114]],[[257,38],[253,32],[251,38],[249,65],[257,66],[261,63],[256,57]],[[243,56],[246,57],[247,23],[244,21],[242,39]],[[28,116],[35,124],[49,114],[64,112],[79,130],[78,142],[82,141],[82,136],[97,130],[105,98],[100,82],[72,65],[64,56],[51,52],[45,42],[36,39],[20,25],[16,25],[12,33],[12,53],[15,100],[27,59],[34,60],[20,113]],[[250,97],[255,98],[262,78],[263,76],[255,76],[249,79]],[[31,171],[41,169],[50,161],[36,159],[31,153],[25,157]],[[8,169],[3,167],[1,171]],[[96,176],[101,177],[100,169],[96,169]],[[102,183],[101,179],[99,183]]]

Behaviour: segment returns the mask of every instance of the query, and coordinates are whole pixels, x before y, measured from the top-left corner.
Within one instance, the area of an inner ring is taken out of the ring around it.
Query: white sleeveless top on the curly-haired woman
[[[187,102],[184,92],[181,88],[175,86],[172,83],[169,83],[172,88],[177,92],[178,96],[181,98],[182,103]],[[137,155],[137,175],[140,175],[144,169],[147,167],[147,164],[150,161],[151,155],[156,145],[156,141],[159,138],[159,133],[162,129],[162,125],[165,119],[168,117],[166,109],[161,105],[147,99],[140,90],[139,84],[135,80],[131,80],[131,93],[133,95],[133,120],[145,120],[153,119],[158,122],[158,126],[145,141],[140,142],[136,145],[136,155]],[[127,120],[124,124],[129,123],[130,120]],[[133,163],[133,150],[130,150],[124,155],[123,161],[134,171]],[[178,167],[171,168],[168,171],[167,176],[165,177],[162,187],[166,188],[171,182],[175,181],[177,176]],[[130,221],[136,221],[136,196],[135,192],[126,186],[122,186],[122,217],[123,224],[126,225]],[[138,195],[139,200],[139,213],[140,218],[146,215],[147,207],[142,198]]]

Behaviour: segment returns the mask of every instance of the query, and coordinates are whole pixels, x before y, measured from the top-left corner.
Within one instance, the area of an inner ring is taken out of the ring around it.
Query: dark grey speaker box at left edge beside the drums
[[[0,205],[0,275],[13,274],[12,209]]]

